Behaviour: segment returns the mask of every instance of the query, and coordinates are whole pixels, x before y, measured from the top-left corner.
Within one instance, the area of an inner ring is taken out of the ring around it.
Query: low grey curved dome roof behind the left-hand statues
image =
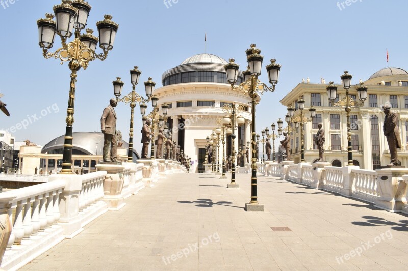
[[[72,133],[73,142],[72,142],[72,153],[81,152],[87,155],[103,155],[104,147],[104,134],[100,132],[74,132]],[[53,153],[55,150],[61,150],[64,148],[64,137],[62,135],[51,141],[49,141],[42,148],[41,153]],[[127,148],[129,145],[125,141],[122,147]],[[133,149],[133,153],[136,154],[136,157],[140,157],[137,154],[136,150]]]

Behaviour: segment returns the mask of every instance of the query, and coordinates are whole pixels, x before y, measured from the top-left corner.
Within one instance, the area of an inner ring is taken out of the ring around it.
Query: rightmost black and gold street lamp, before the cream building
[[[342,76],[340,76],[342,80],[343,88],[346,91],[346,96],[339,100],[338,102],[334,102],[337,96],[337,86],[334,85],[334,82],[329,82],[329,85],[326,86],[327,96],[329,101],[333,106],[338,107],[345,107],[345,111],[347,113],[347,158],[348,158],[348,165],[353,166],[353,148],[351,146],[351,127],[350,127],[350,112],[351,108],[358,108],[364,106],[364,102],[367,99],[367,89],[368,87],[364,85],[363,82],[360,82],[359,86],[356,86],[356,90],[359,93],[360,103],[355,101],[349,95],[349,89],[351,88],[351,79],[352,75],[345,71]]]

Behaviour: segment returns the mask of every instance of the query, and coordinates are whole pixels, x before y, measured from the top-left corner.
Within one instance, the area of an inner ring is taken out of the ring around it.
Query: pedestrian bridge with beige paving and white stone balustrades
[[[50,176],[48,183],[2,193],[2,225],[7,229],[10,217],[12,232],[1,267],[408,268],[408,175],[393,172],[388,184],[386,172],[266,162],[258,174],[264,212],[245,212],[251,185],[242,168],[239,188],[227,189],[230,173],[229,180],[187,173],[168,161],[151,169],[125,166],[124,202],[116,207],[104,189],[105,171]]]

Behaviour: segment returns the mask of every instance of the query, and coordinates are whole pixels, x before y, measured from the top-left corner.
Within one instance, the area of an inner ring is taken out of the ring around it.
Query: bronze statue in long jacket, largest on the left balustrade
[[[104,162],[117,162],[117,140],[116,140],[116,112],[118,104],[115,98],[109,100],[109,105],[104,109],[100,117],[100,129],[104,134]],[[110,146],[110,158],[108,156]]]

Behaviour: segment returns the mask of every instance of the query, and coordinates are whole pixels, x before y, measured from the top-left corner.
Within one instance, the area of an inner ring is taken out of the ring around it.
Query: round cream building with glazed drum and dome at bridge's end
[[[222,110],[225,104],[235,103],[244,108],[240,116],[245,119],[245,123],[235,127],[235,150],[238,152],[239,147],[245,149],[246,141],[250,138],[251,100],[242,93],[232,91],[226,78],[226,64],[228,62],[225,59],[213,54],[194,55],[164,72],[163,87],[154,92],[159,98],[158,107],[163,103],[169,105],[166,125],[172,132],[173,140],[191,157],[192,172],[198,172],[198,168],[202,168],[206,154],[206,137],[217,127],[217,118],[226,115]],[[239,71],[237,84],[242,82],[243,74]],[[227,136],[227,157],[232,153],[229,146],[231,137]]]

